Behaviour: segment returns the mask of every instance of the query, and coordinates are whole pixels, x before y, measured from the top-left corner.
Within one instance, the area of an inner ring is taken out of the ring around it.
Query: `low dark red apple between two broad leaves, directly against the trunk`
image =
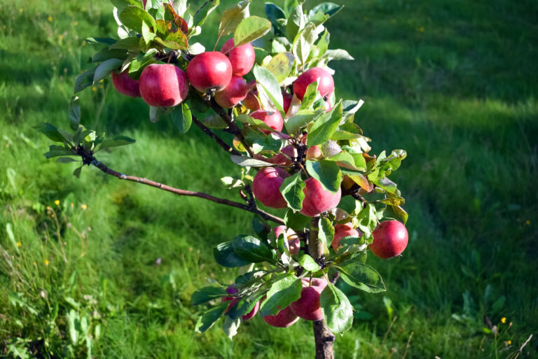
[[[303,279],[303,290],[301,298],[289,304],[289,308],[299,318],[307,321],[321,321],[323,319],[322,308],[319,304],[319,297],[327,286],[327,281],[321,278],[312,278],[312,286],[309,280]]]

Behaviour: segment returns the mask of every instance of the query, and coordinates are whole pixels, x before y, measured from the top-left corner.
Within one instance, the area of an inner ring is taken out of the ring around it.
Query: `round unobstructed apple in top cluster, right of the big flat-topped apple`
[[[191,85],[200,92],[219,92],[228,86],[232,79],[232,64],[222,52],[202,52],[188,63],[187,77]]]

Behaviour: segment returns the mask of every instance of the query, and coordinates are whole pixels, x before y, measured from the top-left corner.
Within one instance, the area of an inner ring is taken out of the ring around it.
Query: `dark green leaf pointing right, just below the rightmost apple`
[[[340,276],[343,281],[350,286],[368,293],[379,293],[386,290],[385,283],[383,283],[380,274],[363,262],[348,260],[338,268],[340,269]]]

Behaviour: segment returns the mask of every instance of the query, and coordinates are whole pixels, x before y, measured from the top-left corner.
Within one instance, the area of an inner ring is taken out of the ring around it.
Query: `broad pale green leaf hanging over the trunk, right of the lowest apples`
[[[353,325],[353,307],[350,300],[336,286],[328,283],[319,297],[323,317],[333,333],[343,333]]]

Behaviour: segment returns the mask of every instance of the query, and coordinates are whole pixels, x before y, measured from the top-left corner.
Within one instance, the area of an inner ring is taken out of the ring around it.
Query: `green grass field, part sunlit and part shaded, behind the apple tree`
[[[356,122],[374,153],[408,151],[393,176],[410,244],[368,258],[387,292],[341,286],[362,309],[336,357],[513,358],[532,334],[519,358],[538,358],[538,4],[340,2],[331,48],[355,61],[333,63],[337,96],[366,101]],[[233,1],[222,3],[207,47]],[[212,246],[249,232],[251,216],[96,169],[78,180],[43,157],[32,126],[67,127],[83,38],[113,36],[111,9],[0,0],[0,357],[313,358],[309,323],[256,317],[233,342],[219,325],[194,334],[193,290],[236,274]],[[238,169],[198,129],[152,124],[108,79],[81,104],[85,124],[137,139],[99,158],[112,169],[232,198],[218,178]]]

